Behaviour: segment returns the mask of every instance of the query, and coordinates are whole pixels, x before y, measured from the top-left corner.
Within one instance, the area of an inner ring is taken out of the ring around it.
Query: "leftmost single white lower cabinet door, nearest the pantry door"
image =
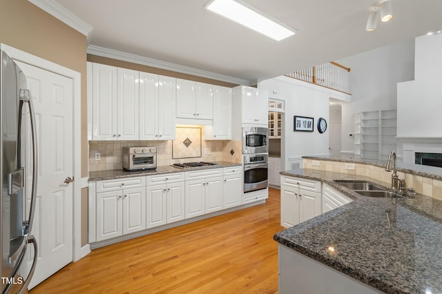
[[[123,191],[97,193],[97,241],[123,234]]]

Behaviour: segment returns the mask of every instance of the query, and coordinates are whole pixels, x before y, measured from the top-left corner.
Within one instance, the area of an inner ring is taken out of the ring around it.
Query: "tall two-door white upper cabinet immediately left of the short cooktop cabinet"
[[[175,139],[176,79],[140,72],[140,139]]]

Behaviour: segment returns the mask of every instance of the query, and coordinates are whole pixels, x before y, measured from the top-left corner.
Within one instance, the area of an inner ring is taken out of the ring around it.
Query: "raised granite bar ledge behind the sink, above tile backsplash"
[[[318,160],[329,160],[329,161],[343,161],[343,162],[354,162],[356,164],[371,164],[372,166],[379,166],[385,168],[387,165],[386,160],[376,160],[376,159],[357,159],[357,158],[340,158],[331,157],[327,155],[309,155],[302,156],[303,159],[318,159]],[[403,173],[410,173],[412,175],[420,175],[421,177],[429,177],[431,179],[442,180],[442,168],[435,166],[423,166],[421,164],[405,164],[403,162],[397,161],[397,171]]]

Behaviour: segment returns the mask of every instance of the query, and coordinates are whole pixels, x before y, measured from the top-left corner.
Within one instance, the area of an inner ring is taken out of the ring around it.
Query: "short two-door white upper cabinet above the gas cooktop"
[[[176,80],[176,117],[181,119],[213,119],[213,85],[186,79]]]

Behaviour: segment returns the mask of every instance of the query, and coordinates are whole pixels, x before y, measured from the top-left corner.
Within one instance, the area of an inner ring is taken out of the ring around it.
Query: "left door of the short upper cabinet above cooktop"
[[[195,119],[195,81],[177,79],[177,113],[176,117]]]

